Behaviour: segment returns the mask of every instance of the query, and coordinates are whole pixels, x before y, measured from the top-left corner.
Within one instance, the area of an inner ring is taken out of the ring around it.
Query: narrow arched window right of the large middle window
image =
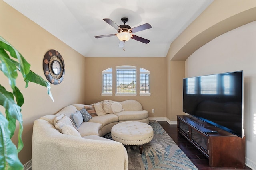
[[[150,72],[140,68],[140,95],[150,94],[149,78]]]

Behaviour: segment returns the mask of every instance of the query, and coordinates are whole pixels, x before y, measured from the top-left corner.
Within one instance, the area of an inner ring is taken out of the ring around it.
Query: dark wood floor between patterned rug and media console
[[[164,128],[164,130],[170,135],[174,142],[180,147],[180,149],[190,158],[199,170],[251,170],[249,167],[244,168],[212,168],[209,166],[209,160],[199,152],[193,145],[191,145],[182,135],[177,133],[177,125],[170,125],[166,121],[158,121],[158,123]]]

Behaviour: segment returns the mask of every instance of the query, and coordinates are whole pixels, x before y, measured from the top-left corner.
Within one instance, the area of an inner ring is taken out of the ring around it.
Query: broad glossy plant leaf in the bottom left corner
[[[18,158],[16,146],[10,139],[8,121],[0,112],[0,169],[1,170],[23,170],[23,165]]]

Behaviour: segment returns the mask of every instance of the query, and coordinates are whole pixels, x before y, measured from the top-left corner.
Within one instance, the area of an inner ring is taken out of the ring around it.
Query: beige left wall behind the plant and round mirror
[[[23,93],[25,100],[22,106],[24,148],[19,153],[19,158],[25,164],[31,159],[34,120],[43,115],[55,113],[68,104],[84,103],[84,96],[81,94],[85,93],[86,80],[81,77],[85,77],[86,59],[2,0],[0,0],[0,12],[0,36],[20,51],[31,64],[31,70],[46,80],[42,61],[44,54],[49,49],[57,50],[62,55],[66,65],[66,73],[62,83],[51,85],[54,102],[48,96],[46,88],[30,82],[28,88],[25,89],[22,76],[18,76],[17,86]],[[8,80],[2,72],[0,72],[0,84],[9,86]],[[10,90],[10,88],[8,89]],[[0,111],[4,113],[3,107],[0,107]],[[17,143],[16,135],[12,140]]]

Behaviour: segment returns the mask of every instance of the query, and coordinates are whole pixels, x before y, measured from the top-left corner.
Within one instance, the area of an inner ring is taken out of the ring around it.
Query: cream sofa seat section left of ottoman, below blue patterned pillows
[[[99,130],[102,128],[102,124],[94,122],[83,122],[78,128],[78,132],[82,137],[89,135],[100,135]]]

